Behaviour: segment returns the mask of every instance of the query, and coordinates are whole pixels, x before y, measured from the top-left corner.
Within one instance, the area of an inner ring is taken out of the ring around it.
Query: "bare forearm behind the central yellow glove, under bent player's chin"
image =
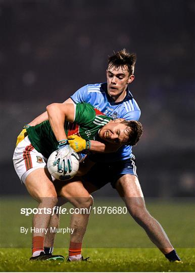
[[[96,153],[114,153],[119,149],[120,146],[117,146],[116,144],[110,144],[110,143],[102,143],[99,141],[91,141],[91,152]]]

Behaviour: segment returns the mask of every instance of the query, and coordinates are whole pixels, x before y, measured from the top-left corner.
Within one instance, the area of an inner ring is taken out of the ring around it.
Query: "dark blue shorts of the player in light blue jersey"
[[[84,181],[88,181],[94,185],[97,189],[101,189],[106,184],[111,183],[112,187],[115,189],[115,184],[117,180],[123,174],[136,175],[135,158],[130,158],[117,162],[109,163],[95,163],[94,166],[82,176]]]

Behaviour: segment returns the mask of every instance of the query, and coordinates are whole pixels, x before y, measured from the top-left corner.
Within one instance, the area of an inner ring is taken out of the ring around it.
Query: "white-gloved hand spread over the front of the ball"
[[[58,154],[54,161],[54,165],[58,163],[58,169],[63,169],[64,172],[71,172],[72,170],[72,161],[71,155],[75,156],[79,160],[79,156],[75,151],[70,147],[68,140],[59,141],[58,145]]]

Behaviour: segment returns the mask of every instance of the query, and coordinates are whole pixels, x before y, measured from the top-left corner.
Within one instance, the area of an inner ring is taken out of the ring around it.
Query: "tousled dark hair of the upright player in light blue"
[[[129,71],[129,75],[133,75],[136,59],[137,57],[135,53],[130,54],[126,52],[125,49],[123,49],[118,51],[117,53],[114,52],[114,55],[109,57],[108,67],[123,68],[126,65]]]

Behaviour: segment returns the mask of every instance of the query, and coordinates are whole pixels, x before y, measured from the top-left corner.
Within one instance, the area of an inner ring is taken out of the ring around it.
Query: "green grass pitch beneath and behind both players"
[[[120,199],[95,200],[94,206],[124,204]],[[82,250],[82,255],[90,256],[91,262],[29,261],[32,234],[20,233],[20,226],[31,226],[32,215],[20,214],[21,208],[28,207],[36,207],[36,202],[26,197],[1,200],[1,271],[195,271],[195,213],[190,199],[147,202],[149,211],[162,224],[183,264],[170,263],[129,214],[94,213],[90,215]],[[67,228],[69,221],[70,215],[61,215],[60,227]],[[66,257],[68,245],[69,234],[57,234],[54,254]]]

